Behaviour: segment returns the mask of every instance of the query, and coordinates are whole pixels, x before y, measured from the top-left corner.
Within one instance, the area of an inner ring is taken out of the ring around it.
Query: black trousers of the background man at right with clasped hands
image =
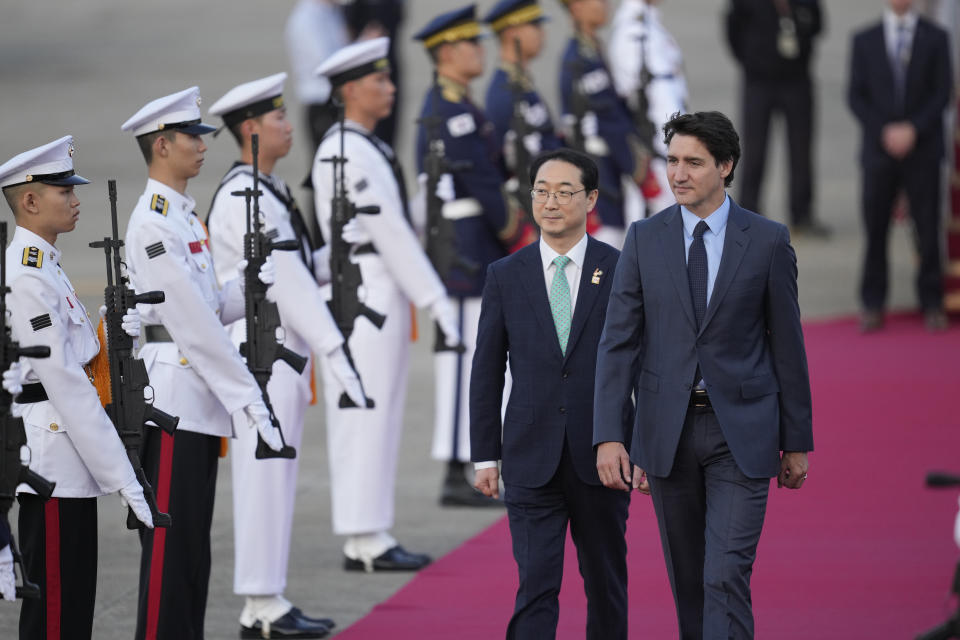
[[[897,193],[904,189],[916,227],[920,269],[917,297],[924,310],[943,306],[940,264],[940,159],[888,160],[863,168],[862,214],[867,247],[860,280],[864,309],[881,311],[887,301],[887,245],[890,213]]]

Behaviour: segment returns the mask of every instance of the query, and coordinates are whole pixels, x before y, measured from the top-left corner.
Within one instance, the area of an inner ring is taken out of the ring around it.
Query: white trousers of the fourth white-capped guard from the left
[[[333,532],[359,535],[393,527],[397,456],[410,357],[410,302],[376,255],[358,258],[366,305],[387,317],[381,329],[357,318],[348,345],[373,409],[340,409],[342,388],[321,363]]]

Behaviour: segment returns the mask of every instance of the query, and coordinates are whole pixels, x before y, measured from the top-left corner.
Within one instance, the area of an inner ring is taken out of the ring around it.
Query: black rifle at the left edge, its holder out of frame
[[[0,344],[0,372],[10,368],[10,365],[24,358],[48,358],[50,347],[21,347],[14,342],[7,326],[7,223],[0,222],[0,249],[3,259],[0,259],[0,323],[3,324],[2,344]],[[13,507],[13,500],[17,497],[17,485],[23,483],[37,492],[37,495],[46,500],[53,495],[55,482],[50,482],[40,474],[32,471],[20,456],[20,452],[27,446],[27,434],[23,428],[23,420],[15,418],[10,413],[13,397],[6,389],[0,388],[0,518],[7,529],[10,521],[7,514]],[[29,451],[29,449],[28,449]],[[39,598],[40,587],[30,582],[27,572],[23,568],[23,556],[14,540],[13,531],[10,531],[10,552],[13,562],[20,570],[22,584],[17,586],[18,598]]]

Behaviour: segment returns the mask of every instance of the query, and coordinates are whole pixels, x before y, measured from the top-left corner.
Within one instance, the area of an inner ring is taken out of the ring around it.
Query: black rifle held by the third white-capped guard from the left
[[[387,317],[382,313],[374,311],[360,300],[360,287],[363,286],[363,274],[360,272],[360,265],[351,260],[354,247],[344,240],[343,228],[353,220],[358,213],[366,215],[376,215],[380,213],[380,207],[369,205],[358,207],[347,195],[347,184],[345,177],[345,167],[347,157],[344,154],[344,138],[347,130],[345,127],[345,114],[343,104],[337,103],[339,109],[340,121],[340,155],[322,158],[321,162],[329,162],[333,169],[333,196],[330,198],[330,287],[331,298],[328,303],[330,313],[333,315],[337,328],[343,335],[343,352],[350,362],[350,366],[356,370],[353,363],[353,356],[350,354],[349,341],[353,335],[353,330],[357,318],[363,317],[370,321],[377,329],[383,328],[383,323]],[[359,372],[357,373],[359,376]],[[367,398],[366,408],[372,409],[375,404],[372,398]],[[346,392],[340,394],[339,407],[349,409],[356,407],[357,404],[350,399]]]

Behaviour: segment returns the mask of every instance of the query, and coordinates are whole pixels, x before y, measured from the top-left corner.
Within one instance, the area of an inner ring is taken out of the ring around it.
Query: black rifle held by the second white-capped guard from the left
[[[277,360],[286,362],[297,373],[303,373],[307,366],[307,359],[287,349],[277,339],[277,330],[280,329],[280,311],[275,302],[267,300],[269,287],[260,281],[259,274],[272,251],[299,251],[300,243],[297,240],[272,240],[263,232],[263,223],[260,220],[260,196],[263,192],[260,191],[260,166],[257,160],[260,155],[260,136],[253,134],[250,137],[250,144],[253,152],[253,188],[248,187],[242,191],[230,193],[234,196],[243,196],[247,203],[247,232],[243,235],[243,257],[247,261],[243,272],[247,339],[240,344],[240,355],[246,358],[247,369],[260,386],[263,403],[270,412],[270,422],[277,428],[280,441],[283,443],[280,451],[274,451],[257,431],[257,450],[254,455],[258,460],[296,458],[297,450],[288,445],[283,438],[280,421],[273,412],[273,405],[270,404],[270,396],[267,394],[267,383],[273,372],[273,363]]]

